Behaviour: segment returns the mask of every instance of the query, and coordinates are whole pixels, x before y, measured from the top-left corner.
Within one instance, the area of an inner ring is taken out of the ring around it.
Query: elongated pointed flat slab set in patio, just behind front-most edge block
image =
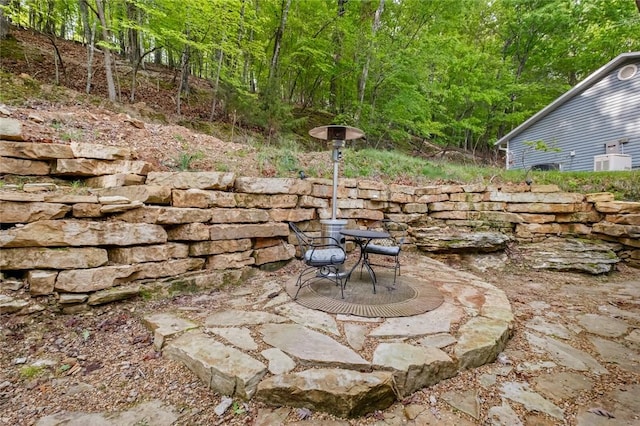
[[[260,328],[265,343],[305,365],[358,370],[369,362],[329,336],[298,324],[267,324]]]

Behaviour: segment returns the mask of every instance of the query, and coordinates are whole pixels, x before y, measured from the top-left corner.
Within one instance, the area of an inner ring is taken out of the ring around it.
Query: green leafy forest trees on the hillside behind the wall
[[[373,148],[428,141],[485,156],[640,50],[640,0],[0,0],[0,37],[13,27],[45,34],[56,52],[60,39],[81,43],[74,83],[114,101],[136,102],[138,74],[160,65],[174,72],[177,115],[203,95],[197,77],[201,120],[271,136],[322,114],[363,129]]]

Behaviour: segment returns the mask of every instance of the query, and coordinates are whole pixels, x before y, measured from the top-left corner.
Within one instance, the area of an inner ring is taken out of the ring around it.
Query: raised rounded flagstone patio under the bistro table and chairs
[[[503,291],[427,257],[403,265],[402,274],[428,279],[442,305],[398,318],[328,314],[291,300],[286,282],[267,282],[239,291],[227,310],[195,319],[163,312],[145,322],[156,348],[215,392],[358,417],[493,362],[510,335],[514,317]]]

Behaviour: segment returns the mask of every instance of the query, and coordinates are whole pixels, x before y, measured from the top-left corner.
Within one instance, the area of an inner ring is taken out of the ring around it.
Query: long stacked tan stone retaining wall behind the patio
[[[101,304],[139,294],[150,280],[288,261],[295,247],[287,222],[319,233],[320,219],[331,217],[328,179],[151,172],[134,156],[101,145],[0,141],[0,175],[36,180],[0,188],[5,278],[67,308]],[[640,266],[640,203],[609,193],[340,179],[337,202],[348,227],[390,219],[408,248],[426,252],[578,237],[610,242],[616,261]]]

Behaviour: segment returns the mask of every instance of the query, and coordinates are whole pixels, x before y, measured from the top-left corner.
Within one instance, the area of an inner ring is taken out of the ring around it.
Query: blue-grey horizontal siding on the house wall
[[[618,71],[635,64],[628,80]],[[551,111],[508,144],[508,168],[530,168],[556,163],[561,170],[593,170],[594,156],[605,154],[605,144],[621,139],[632,168],[640,169],[640,58],[621,63],[595,84]],[[531,149],[527,141],[543,141],[557,152]],[[572,151],[575,155],[571,155]]]

